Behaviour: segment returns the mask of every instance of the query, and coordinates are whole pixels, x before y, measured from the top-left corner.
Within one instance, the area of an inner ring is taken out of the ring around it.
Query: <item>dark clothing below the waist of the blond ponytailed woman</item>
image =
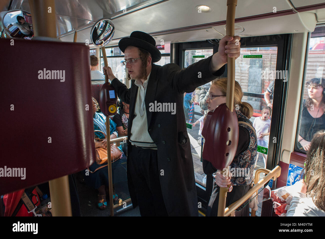
[[[250,185],[240,185],[240,186],[233,186],[232,191],[227,193],[226,198],[226,207],[230,204],[236,202],[240,199],[248,190],[251,188]],[[216,217],[218,214],[218,204],[219,204],[219,190],[220,187],[213,182],[213,190],[211,194],[211,198],[209,201],[208,208],[206,210],[207,217]],[[245,201],[239,208],[235,211],[236,217],[249,217],[249,200]]]

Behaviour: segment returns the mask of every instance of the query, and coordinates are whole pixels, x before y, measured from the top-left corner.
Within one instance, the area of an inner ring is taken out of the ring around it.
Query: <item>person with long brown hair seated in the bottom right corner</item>
[[[305,178],[296,182],[287,217],[325,216],[325,131],[317,132],[311,140],[305,161]]]

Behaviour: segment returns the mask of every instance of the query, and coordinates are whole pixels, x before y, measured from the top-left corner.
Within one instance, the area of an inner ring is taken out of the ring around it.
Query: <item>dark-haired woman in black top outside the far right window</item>
[[[298,147],[308,151],[313,135],[325,129],[325,79],[313,78],[306,83],[308,99],[304,102],[298,136]]]

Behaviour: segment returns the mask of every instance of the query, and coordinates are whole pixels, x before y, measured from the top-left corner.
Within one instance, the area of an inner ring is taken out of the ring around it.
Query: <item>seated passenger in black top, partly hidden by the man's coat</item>
[[[127,122],[129,120],[129,107],[130,105],[123,102],[120,104],[119,112],[114,115],[113,121],[116,123],[116,130],[118,137],[127,136]],[[122,106],[123,105],[123,106]],[[123,152],[126,155],[127,143],[123,143]]]

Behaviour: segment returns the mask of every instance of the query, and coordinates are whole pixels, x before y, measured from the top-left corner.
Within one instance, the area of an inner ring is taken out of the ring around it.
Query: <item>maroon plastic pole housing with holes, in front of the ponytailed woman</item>
[[[204,137],[203,159],[212,163],[219,170],[229,166],[238,147],[238,119],[236,112],[231,112],[227,105],[220,104],[207,114],[202,129]]]

